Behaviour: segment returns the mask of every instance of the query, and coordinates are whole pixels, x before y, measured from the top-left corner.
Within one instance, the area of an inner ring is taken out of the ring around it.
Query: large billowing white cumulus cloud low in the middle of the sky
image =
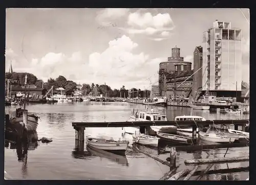
[[[122,85],[131,88],[136,84],[141,88],[148,86],[147,78],[157,74],[162,59],[149,60],[148,55],[143,52],[134,54],[133,49],[136,47],[138,47],[137,43],[123,35],[110,41],[109,47],[103,52],[91,54],[89,56],[89,68],[93,71],[91,81],[106,82],[113,88],[120,88]]]

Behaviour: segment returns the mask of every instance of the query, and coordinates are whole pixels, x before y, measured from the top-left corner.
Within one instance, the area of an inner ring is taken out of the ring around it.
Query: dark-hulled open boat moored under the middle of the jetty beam
[[[161,140],[167,141],[169,143],[175,145],[194,145],[196,142],[193,142],[192,138],[188,138],[185,136],[178,136],[174,134],[166,134],[166,133],[159,133],[157,132],[157,137]]]

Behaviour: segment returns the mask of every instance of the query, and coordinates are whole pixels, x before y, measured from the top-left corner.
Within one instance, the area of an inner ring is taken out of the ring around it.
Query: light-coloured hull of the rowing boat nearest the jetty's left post
[[[125,151],[128,143],[127,142],[96,142],[91,141],[87,138],[87,145],[92,146],[97,149],[106,150],[106,151]]]

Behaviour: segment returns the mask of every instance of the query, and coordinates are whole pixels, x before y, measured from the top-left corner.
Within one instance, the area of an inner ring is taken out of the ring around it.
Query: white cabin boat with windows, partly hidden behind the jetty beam
[[[130,115],[130,119],[132,121],[167,121],[166,115],[160,114],[158,112],[154,112],[152,109],[151,112],[141,111],[138,114],[138,111],[135,114]],[[162,133],[176,133],[176,126],[150,126],[155,133],[157,131]],[[127,134],[135,134],[135,131],[139,131],[139,127],[123,127],[124,132]]]

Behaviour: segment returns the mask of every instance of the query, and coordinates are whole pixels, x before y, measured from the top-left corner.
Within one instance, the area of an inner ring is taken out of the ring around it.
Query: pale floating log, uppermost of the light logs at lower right
[[[226,163],[226,162],[240,162],[240,161],[249,161],[249,156],[185,160],[184,163],[187,165],[187,164],[206,164],[206,163],[223,163],[223,162]]]

